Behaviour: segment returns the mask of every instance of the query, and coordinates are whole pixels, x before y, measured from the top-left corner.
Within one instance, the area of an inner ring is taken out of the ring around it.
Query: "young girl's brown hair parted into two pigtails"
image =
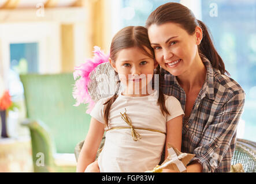
[[[110,58],[112,62],[116,62],[118,52],[125,48],[138,47],[145,55],[154,59],[154,50],[150,45],[149,37],[147,35],[147,29],[143,26],[128,26],[121,29],[112,39],[110,46]],[[157,68],[157,74],[159,74],[159,66]],[[117,82],[117,91],[119,90],[120,81]],[[117,99],[118,95],[116,93],[109,98],[103,105],[104,106],[104,120],[108,126],[109,121],[109,111]],[[158,90],[158,105],[161,108],[161,112],[164,114],[169,114],[165,107],[165,98],[159,87]]]

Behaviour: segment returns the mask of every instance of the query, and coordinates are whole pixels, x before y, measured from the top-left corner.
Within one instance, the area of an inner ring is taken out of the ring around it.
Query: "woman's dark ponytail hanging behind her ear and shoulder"
[[[220,70],[221,74],[225,74],[226,72],[229,75],[228,71],[225,70],[223,60],[221,59],[220,55],[218,55],[218,52],[214,47],[207,26],[202,21],[197,21],[203,31],[203,38],[198,47],[199,53],[203,56],[206,56],[207,59],[209,59],[210,62],[212,63],[212,66]]]

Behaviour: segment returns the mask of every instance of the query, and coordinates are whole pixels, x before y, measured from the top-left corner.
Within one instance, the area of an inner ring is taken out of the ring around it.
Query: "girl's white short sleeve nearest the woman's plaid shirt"
[[[170,113],[166,115],[166,122],[168,122],[169,120],[172,120],[177,116],[184,114],[184,111],[180,105],[180,101],[173,96],[166,96],[165,106],[168,112]]]

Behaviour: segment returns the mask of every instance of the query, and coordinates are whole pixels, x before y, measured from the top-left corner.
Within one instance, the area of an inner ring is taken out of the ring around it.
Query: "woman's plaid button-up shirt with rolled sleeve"
[[[190,117],[183,120],[181,151],[195,154],[203,172],[228,172],[235,151],[236,127],[243,111],[245,93],[237,82],[213,68],[205,57],[205,83]],[[185,109],[185,91],[175,76],[161,68],[161,89],[179,99]]]

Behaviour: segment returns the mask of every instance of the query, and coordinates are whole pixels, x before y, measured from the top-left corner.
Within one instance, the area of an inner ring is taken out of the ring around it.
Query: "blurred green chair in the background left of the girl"
[[[88,132],[86,105],[73,106],[73,74],[20,75],[24,86],[26,125],[31,133],[35,172],[75,172],[74,149]],[[38,153],[44,155],[38,166]],[[73,162],[72,162],[73,159]]]

